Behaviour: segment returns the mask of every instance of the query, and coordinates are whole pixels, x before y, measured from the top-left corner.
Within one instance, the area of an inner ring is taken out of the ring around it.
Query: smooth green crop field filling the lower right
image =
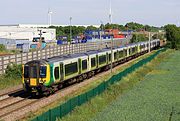
[[[91,121],[180,121],[180,51],[160,60],[156,59],[160,65],[153,66],[143,81]]]

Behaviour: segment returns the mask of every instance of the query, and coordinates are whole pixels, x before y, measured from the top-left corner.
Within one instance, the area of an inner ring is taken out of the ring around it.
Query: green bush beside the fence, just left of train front
[[[18,65],[15,63],[10,63],[6,68],[6,77],[15,77],[15,78],[21,78],[22,75],[22,65]]]

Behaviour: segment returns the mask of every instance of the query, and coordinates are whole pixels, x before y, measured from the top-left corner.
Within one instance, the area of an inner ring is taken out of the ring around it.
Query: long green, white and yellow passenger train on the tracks
[[[159,40],[150,43],[153,50],[160,46]],[[33,60],[23,65],[23,87],[30,93],[43,94],[61,88],[62,84],[81,82],[99,71],[108,70],[132,58],[145,54],[149,42],[129,44],[111,49],[68,54],[43,60]]]

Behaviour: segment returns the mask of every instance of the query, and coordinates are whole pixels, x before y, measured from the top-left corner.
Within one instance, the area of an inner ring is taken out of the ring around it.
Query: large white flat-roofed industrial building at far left
[[[42,30],[42,37],[44,40],[56,40],[56,30],[49,28],[40,28],[39,26],[28,25],[0,25],[0,38],[6,39],[20,39],[30,40],[40,37],[40,30]],[[44,26],[42,26],[44,27]]]

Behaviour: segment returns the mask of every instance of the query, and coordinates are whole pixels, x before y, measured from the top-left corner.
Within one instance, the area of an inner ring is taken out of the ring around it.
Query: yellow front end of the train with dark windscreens
[[[50,83],[50,66],[44,60],[30,61],[23,65],[23,87],[29,93],[46,91]]]

